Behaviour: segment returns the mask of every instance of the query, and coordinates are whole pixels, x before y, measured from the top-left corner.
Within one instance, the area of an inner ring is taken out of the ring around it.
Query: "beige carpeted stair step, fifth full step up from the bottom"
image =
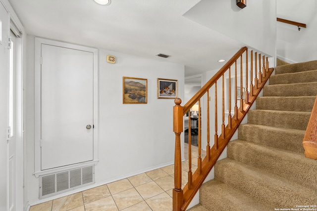
[[[311,112],[251,110],[248,123],[272,127],[306,130]]]

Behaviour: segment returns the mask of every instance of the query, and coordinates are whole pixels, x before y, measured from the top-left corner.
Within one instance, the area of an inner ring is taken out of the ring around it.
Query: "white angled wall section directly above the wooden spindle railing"
[[[276,0],[249,0],[243,9],[236,0],[201,0],[184,16],[270,56],[276,55]]]

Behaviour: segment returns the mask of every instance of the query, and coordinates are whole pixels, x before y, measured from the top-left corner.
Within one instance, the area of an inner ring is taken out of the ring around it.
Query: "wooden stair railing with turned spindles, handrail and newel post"
[[[245,53],[245,56],[244,56]],[[264,84],[273,72],[268,68],[268,57],[251,50],[249,70],[248,48],[242,47],[184,106],[181,99],[175,99],[173,108],[173,131],[175,132],[175,163],[174,163],[174,189],[173,211],[185,211],[195,194],[203,184],[212,167],[218,160],[224,148],[227,146],[234,132],[247,114],[251,105],[260,93]],[[240,59],[239,59],[240,58]],[[262,66],[263,62],[263,67]],[[259,64],[259,66],[258,66]],[[240,70],[238,66],[240,65]],[[259,68],[258,68],[259,67]],[[232,71],[234,69],[234,71]],[[239,76],[240,75],[240,76]],[[254,76],[254,79],[253,79]],[[228,82],[225,84],[225,77]],[[234,82],[232,82],[233,78]],[[238,80],[239,79],[239,80]],[[220,85],[220,89],[217,87]],[[245,86],[243,86],[245,84]],[[248,86],[250,89],[248,90]],[[227,87],[227,88],[225,88]],[[245,91],[243,92],[245,88]],[[234,91],[232,91],[234,90]],[[211,94],[211,93],[214,94]],[[210,95],[211,94],[211,95]],[[232,96],[234,95],[234,97]],[[219,97],[218,97],[219,96]],[[213,100],[211,100],[213,98]],[[202,102],[206,101],[202,104]],[[210,101],[213,101],[210,105]],[[191,149],[191,115],[188,115],[188,181],[182,189],[182,160],[181,160],[181,133],[183,131],[183,117],[190,109],[198,104],[198,161],[197,170],[192,172]],[[212,104],[214,113],[212,112]],[[233,116],[231,104],[234,105]],[[239,108],[238,108],[239,104]],[[225,106],[227,105],[227,106]],[[218,109],[221,107],[221,110]],[[226,110],[227,108],[227,110]],[[211,115],[210,115],[211,113]],[[203,115],[206,115],[205,117]],[[227,119],[225,116],[227,115]],[[202,116],[206,120],[206,127],[202,127]],[[218,116],[221,116],[219,118]],[[214,123],[210,121],[214,118]],[[214,124],[214,143],[211,146],[211,124]],[[218,131],[221,134],[218,135]],[[206,133],[206,156],[202,158],[202,132]]]

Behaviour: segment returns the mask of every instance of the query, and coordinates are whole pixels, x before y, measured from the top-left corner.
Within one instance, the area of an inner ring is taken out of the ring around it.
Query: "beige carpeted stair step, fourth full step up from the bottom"
[[[240,140],[263,144],[304,154],[305,130],[243,124],[238,129]]]

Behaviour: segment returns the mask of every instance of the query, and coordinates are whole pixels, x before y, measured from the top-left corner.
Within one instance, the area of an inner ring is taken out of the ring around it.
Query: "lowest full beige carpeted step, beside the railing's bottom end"
[[[238,189],[211,180],[200,189],[201,205],[209,211],[263,211],[269,210],[264,204],[253,200]]]

